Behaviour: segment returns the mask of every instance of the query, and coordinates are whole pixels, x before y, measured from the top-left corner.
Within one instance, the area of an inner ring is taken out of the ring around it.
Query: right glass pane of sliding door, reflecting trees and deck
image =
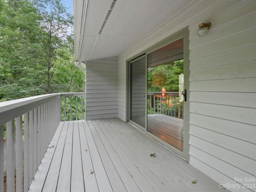
[[[183,38],[147,55],[147,131],[183,152]]]

